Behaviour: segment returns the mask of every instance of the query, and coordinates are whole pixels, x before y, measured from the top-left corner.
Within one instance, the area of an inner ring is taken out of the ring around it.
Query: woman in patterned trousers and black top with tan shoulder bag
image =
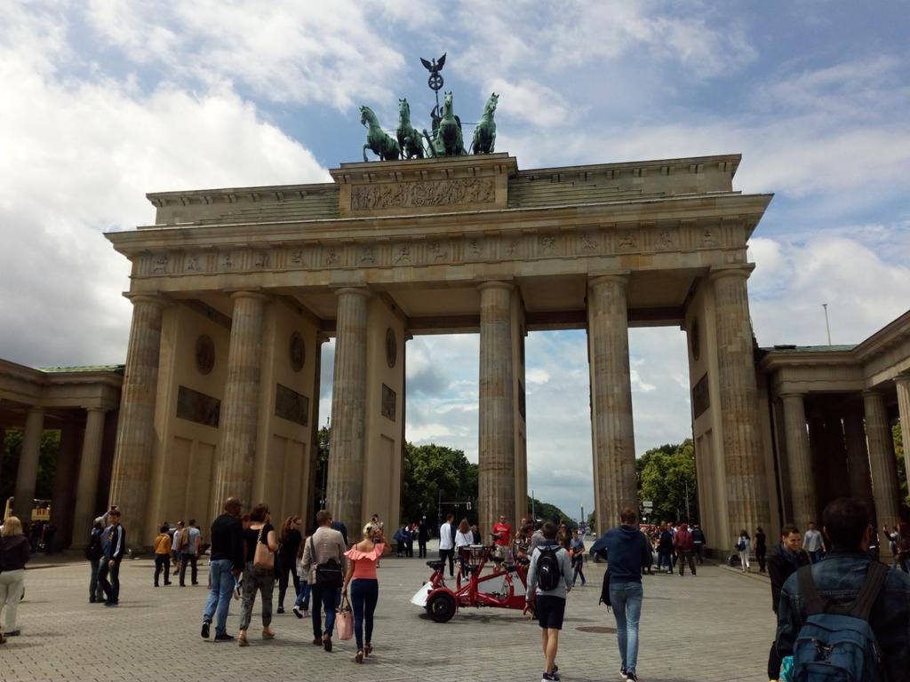
[[[262,594],[262,638],[274,639],[272,622],[272,592],[275,589],[275,553],[278,540],[275,528],[268,523],[268,505],[257,505],[249,514],[249,527],[243,531],[243,600],[240,611],[240,633],[237,643],[248,647],[247,630],[256,603],[256,591]]]

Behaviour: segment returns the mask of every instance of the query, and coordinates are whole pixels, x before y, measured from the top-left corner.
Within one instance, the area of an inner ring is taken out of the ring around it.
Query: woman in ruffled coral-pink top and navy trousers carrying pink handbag
[[[376,611],[376,602],[379,601],[379,580],[376,579],[376,565],[379,557],[388,554],[391,547],[382,537],[382,527],[370,522],[363,527],[363,539],[354,547],[345,552],[348,557],[348,573],[344,577],[344,589],[341,594],[348,596],[350,587],[351,607],[354,609],[354,636],[357,637],[358,663],[363,663],[363,656],[369,656],[373,647],[370,640],[373,637],[373,612]],[[367,626],[367,644],[363,643],[364,621]]]

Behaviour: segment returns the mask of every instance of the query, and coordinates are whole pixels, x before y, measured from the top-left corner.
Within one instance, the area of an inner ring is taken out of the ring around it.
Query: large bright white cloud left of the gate
[[[122,361],[129,268],[101,233],[152,222],[146,192],[328,175],[229,88],[61,78],[27,53],[65,28],[34,29],[0,55],[0,347],[30,365]]]

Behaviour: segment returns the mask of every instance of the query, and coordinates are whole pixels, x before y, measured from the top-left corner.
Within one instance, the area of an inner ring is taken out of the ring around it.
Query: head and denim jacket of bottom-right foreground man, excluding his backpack
[[[824,508],[824,535],[831,551],[812,567],[820,597],[831,607],[850,605],[863,588],[871,562],[869,513],[862,500],[839,497]],[[777,653],[793,654],[796,636],[806,620],[799,576],[787,578],[777,610]],[[910,576],[888,570],[885,584],[869,614],[869,627],[882,652],[885,679],[906,679],[910,670]]]

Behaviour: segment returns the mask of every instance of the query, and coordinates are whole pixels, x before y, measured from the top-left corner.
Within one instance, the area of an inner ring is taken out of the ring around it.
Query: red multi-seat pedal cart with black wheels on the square
[[[428,561],[433,569],[430,580],[424,583],[411,603],[422,606],[437,623],[451,620],[455,612],[463,607],[525,608],[525,594],[528,588],[528,559],[518,559],[506,564],[494,556],[495,546],[471,545],[462,547],[460,568],[454,580],[454,588],[446,584],[443,575],[444,561]],[[481,575],[488,561],[493,570]]]

